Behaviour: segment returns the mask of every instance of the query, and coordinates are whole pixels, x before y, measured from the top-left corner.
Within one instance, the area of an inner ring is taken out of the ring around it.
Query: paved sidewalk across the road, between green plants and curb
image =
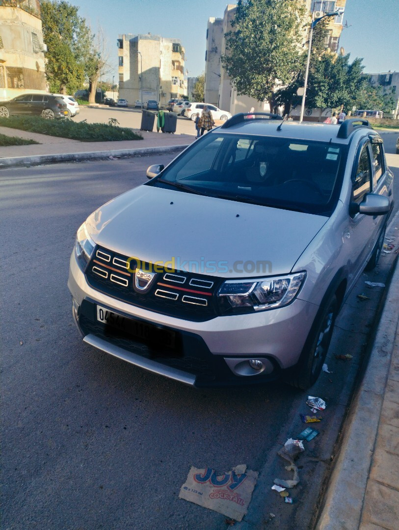
[[[68,160],[88,160],[107,156],[134,156],[183,149],[194,141],[194,136],[185,134],[149,133],[136,131],[143,140],[123,140],[122,142],[79,142],[69,138],[58,138],[38,133],[28,133],[19,129],[0,127],[0,133],[7,136],[30,138],[39,144],[0,147],[0,168],[22,164],[42,164],[44,162],[65,162]]]

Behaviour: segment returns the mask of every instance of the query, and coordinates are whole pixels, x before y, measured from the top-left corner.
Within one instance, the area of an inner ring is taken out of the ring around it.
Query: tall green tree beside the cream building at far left
[[[84,63],[92,36],[78,9],[65,1],[41,1],[46,76],[51,92],[74,93],[85,80]]]

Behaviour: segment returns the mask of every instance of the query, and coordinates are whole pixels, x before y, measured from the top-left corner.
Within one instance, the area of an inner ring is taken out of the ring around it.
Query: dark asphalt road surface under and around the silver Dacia
[[[274,528],[311,528],[383,289],[367,289],[361,276],[336,323],[332,373],[309,392],[281,382],[196,390],[85,345],[66,287],[76,229],[97,206],[146,180],[148,165],[169,160],[0,172],[5,529],[225,529],[223,515],[178,495],[191,465],[223,472],[238,464],[260,472],[245,518],[251,528],[263,528],[269,513]],[[399,219],[397,244],[395,226]],[[394,257],[384,255],[368,279],[386,281]],[[365,291],[370,299],[362,302],[357,294]],[[353,358],[334,357],[346,353]],[[288,505],[270,488],[277,476],[290,478],[277,451],[305,427],[299,412],[308,412],[308,394],[327,409],[320,435],[300,456]]]

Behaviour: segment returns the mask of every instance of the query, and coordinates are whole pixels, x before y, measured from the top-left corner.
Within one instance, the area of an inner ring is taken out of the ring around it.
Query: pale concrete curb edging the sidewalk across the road
[[[70,162],[77,160],[96,160],[96,158],[107,158],[108,156],[145,156],[162,153],[173,153],[183,151],[187,145],[167,145],[162,147],[143,147],[141,149],[111,149],[109,151],[87,151],[85,153],[58,153],[51,155],[12,156],[0,158],[0,169],[3,167],[17,167],[21,165],[40,165],[46,163]]]

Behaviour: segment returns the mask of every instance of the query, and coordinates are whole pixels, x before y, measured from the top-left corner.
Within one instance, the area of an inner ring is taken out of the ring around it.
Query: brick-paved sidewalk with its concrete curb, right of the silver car
[[[399,228],[399,218],[394,226]],[[316,530],[399,528],[399,264]]]

